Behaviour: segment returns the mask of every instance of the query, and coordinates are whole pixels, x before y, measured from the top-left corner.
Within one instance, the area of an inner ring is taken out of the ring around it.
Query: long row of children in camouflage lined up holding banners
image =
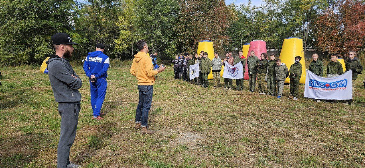
[[[355,51],[349,52],[349,59],[346,61],[346,71],[353,71],[353,91],[354,91],[354,80],[357,78],[357,74],[360,74],[362,71],[362,65],[360,60],[355,57],[357,53]],[[208,53],[201,51],[200,54],[195,54],[195,60],[192,55],[188,53],[180,54],[180,56],[176,55],[176,59],[172,62],[174,63],[174,72],[175,79],[181,79],[183,76],[183,80],[190,81],[192,83],[201,84],[204,88],[207,88],[208,83],[208,75],[211,72],[214,79],[214,87],[220,87],[220,71],[221,66],[224,65],[224,62],[227,61],[230,65],[235,65],[238,62],[243,64],[243,75],[245,74],[245,65],[247,63],[247,69],[249,74],[249,88],[250,92],[255,91],[256,80],[258,80],[258,91],[260,95],[271,95],[277,96],[277,98],[281,98],[283,96],[283,88],[284,82],[289,77],[290,79],[290,94],[293,96],[293,100],[297,100],[298,92],[299,92],[299,81],[301,75],[303,73],[302,65],[300,60],[302,57],[296,56],[294,63],[287,68],[287,65],[281,62],[280,58],[276,58],[275,54],[272,53],[269,56],[267,53],[261,53],[261,60],[255,55],[254,51],[250,51],[250,56],[246,57],[242,55],[242,51],[239,51],[238,57],[235,59],[232,56],[232,52],[226,53],[226,58],[222,61],[218,53],[214,53],[214,58],[210,60],[208,58]],[[323,63],[318,60],[318,54],[312,55],[313,61],[310,63],[308,70],[313,72],[315,75],[323,76]],[[342,75],[343,69],[342,64],[337,60],[338,55],[332,54],[331,61],[327,65],[327,78],[336,77]],[[199,63],[200,74],[199,77],[189,80],[189,65],[193,65]],[[267,78],[266,78],[267,75]],[[267,91],[265,88],[265,78],[267,80]],[[224,88],[232,89],[232,79],[224,78]],[[364,79],[364,87],[365,87],[365,79]],[[243,89],[243,78],[236,79],[237,90]],[[315,101],[320,102],[321,100],[315,99]],[[327,102],[333,102],[333,100],[326,100]],[[348,100],[344,104],[353,105],[353,99]]]

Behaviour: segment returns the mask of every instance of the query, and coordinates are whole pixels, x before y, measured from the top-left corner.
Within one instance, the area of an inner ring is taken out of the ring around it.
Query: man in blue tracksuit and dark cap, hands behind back
[[[90,78],[90,95],[93,119],[102,120],[100,109],[107,91],[107,70],[109,57],[104,53],[104,45],[96,44],[96,51],[89,52],[84,61],[84,71]]]

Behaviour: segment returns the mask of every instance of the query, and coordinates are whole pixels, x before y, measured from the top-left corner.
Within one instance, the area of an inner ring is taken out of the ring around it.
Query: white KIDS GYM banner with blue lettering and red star
[[[332,78],[320,77],[307,71],[304,97],[324,100],[352,99],[352,71]]]

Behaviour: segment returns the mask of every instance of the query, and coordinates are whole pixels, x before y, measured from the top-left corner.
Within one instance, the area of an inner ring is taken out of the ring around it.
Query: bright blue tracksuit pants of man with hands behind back
[[[105,93],[107,92],[107,80],[99,78],[95,82],[90,81],[90,99],[94,116],[100,115],[101,106],[103,106]]]

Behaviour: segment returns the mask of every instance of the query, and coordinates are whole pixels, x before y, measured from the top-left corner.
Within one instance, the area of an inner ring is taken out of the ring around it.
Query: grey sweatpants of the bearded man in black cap
[[[61,133],[57,147],[57,168],[66,168],[70,163],[70,148],[75,141],[80,104],[58,104],[61,116]]]

